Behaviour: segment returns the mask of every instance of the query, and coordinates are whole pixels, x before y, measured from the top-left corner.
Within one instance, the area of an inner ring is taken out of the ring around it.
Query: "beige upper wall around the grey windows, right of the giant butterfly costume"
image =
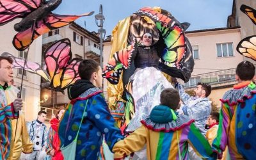
[[[236,46],[241,40],[240,29],[223,29],[219,31],[203,31],[187,33],[191,45],[198,45],[199,60],[195,60],[192,73],[204,74],[228,68],[236,68],[243,61],[243,56],[236,51]],[[216,44],[233,43],[234,56],[217,57]]]

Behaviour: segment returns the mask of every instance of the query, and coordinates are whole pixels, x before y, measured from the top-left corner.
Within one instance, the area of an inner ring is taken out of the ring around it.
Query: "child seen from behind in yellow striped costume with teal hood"
[[[175,113],[179,106],[179,92],[166,88],[160,95],[161,104],[141,121],[141,127],[114,148],[115,159],[136,152],[147,143],[147,159],[188,159],[188,143],[200,157],[214,158],[211,145],[186,115]]]

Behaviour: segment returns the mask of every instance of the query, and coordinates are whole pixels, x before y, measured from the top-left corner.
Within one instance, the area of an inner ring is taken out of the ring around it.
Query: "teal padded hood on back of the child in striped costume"
[[[177,120],[177,115],[175,114],[175,111],[168,108],[168,106],[159,105],[152,109],[149,118],[152,122],[165,124],[172,122],[172,120]]]

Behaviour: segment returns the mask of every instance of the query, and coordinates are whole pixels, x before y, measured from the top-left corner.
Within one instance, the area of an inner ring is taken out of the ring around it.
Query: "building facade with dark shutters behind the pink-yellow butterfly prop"
[[[82,28],[75,22],[63,28],[45,33],[42,36],[43,51],[52,43],[63,38],[68,38],[71,42],[72,58],[90,58],[99,61],[99,36]],[[47,100],[44,100],[44,97],[48,97]],[[51,115],[56,113],[60,108],[65,108],[68,102],[70,102],[67,96],[67,90],[61,93],[42,88],[41,99],[40,108],[47,112],[47,119],[50,119]]]

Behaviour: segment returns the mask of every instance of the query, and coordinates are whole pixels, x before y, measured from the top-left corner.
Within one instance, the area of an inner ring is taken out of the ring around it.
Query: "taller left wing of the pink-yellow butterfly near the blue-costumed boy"
[[[72,58],[70,40],[67,38],[59,40],[50,45],[44,52],[44,60],[47,72],[51,77],[52,88],[61,88],[61,76],[63,68],[67,66]]]

